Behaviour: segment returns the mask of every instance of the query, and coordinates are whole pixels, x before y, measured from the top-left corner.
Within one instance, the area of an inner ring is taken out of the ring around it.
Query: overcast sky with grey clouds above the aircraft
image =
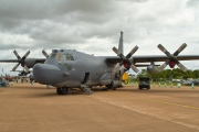
[[[124,32],[124,52],[135,45],[135,55],[163,55],[163,44],[174,53],[182,43],[181,55],[198,54],[198,0],[0,0],[0,59],[29,57],[53,48],[70,48],[111,55]],[[182,62],[198,69],[199,61]],[[15,64],[0,64],[9,72]],[[22,68],[18,68],[22,69]],[[1,72],[1,70],[0,70]]]

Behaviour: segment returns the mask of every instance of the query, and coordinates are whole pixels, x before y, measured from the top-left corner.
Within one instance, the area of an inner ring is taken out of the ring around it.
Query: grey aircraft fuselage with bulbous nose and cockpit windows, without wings
[[[104,74],[111,79],[113,67],[105,59],[76,51],[54,51],[44,64],[33,67],[34,79],[43,85],[54,87],[80,87],[102,85]]]

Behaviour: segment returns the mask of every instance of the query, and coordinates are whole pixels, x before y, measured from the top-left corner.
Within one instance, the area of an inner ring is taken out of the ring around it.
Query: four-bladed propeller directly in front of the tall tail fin
[[[138,73],[139,70],[129,59],[137,50],[138,46],[135,46],[126,56],[124,56],[116,47],[113,47],[113,51],[117,54],[117,56],[119,56],[123,59],[123,62],[121,62],[119,65],[116,66],[116,69],[119,69],[119,67],[123,65],[125,68],[132,68],[135,73]]]

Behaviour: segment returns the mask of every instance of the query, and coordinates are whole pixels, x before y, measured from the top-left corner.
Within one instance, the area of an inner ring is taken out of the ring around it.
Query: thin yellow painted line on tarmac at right
[[[119,95],[119,94],[117,94],[117,95],[123,96],[123,97],[130,97],[130,96],[127,96],[127,95],[125,95],[125,96]],[[180,105],[180,103],[174,103],[174,102],[167,102],[167,101],[158,101],[158,100],[155,100],[155,99],[146,99],[146,98],[138,98],[138,97],[130,97],[130,98],[145,100],[145,101],[150,101],[150,102],[158,102],[158,103],[164,103],[164,105],[170,105],[170,106],[177,106],[177,107],[184,107],[184,108],[190,108],[190,109],[199,110],[198,107],[193,107],[193,106],[187,106],[187,105]]]

